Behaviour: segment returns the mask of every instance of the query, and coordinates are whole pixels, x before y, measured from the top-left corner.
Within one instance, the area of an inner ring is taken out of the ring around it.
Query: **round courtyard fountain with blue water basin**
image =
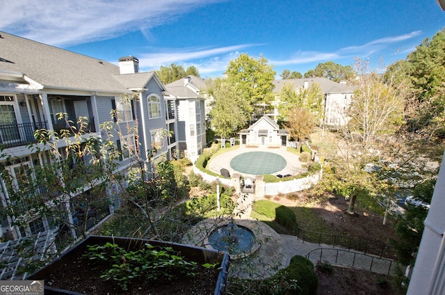
[[[248,256],[259,248],[254,233],[237,225],[234,218],[211,232],[209,245],[213,249],[227,251],[232,259]]]

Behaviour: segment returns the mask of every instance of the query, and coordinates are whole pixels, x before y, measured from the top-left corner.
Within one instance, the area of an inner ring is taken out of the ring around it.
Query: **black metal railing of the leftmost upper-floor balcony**
[[[6,148],[36,143],[34,131],[47,129],[47,122],[0,125],[0,144]]]

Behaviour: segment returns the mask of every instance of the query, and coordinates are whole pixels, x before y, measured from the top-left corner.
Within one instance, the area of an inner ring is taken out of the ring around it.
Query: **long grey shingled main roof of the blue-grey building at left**
[[[0,72],[22,72],[43,88],[128,93],[119,67],[97,58],[0,31]]]

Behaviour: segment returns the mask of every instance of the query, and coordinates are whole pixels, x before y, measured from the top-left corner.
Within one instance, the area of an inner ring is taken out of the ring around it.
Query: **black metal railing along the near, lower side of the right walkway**
[[[328,262],[333,265],[348,266],[355,269],[364,269],[374,273],[394,273],[396,262],[387,258],[376,257],[365,253],[357,253],[350,250],[316,248],[307,253],[308,260],[316,260],[320,263]]]

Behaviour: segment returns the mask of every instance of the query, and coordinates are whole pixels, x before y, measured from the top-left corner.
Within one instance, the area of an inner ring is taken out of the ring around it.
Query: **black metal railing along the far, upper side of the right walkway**
[[[297,237],[302,241],[325,244],[332,247],[339,246],[348,250],[357,250],[364,254],[378,255],[379,257],[393,257],[394,251],[385,244],[368,241],[357,237],[346,237],[339,234],[328,234],[325,232],[313,232],[298,228]]]

